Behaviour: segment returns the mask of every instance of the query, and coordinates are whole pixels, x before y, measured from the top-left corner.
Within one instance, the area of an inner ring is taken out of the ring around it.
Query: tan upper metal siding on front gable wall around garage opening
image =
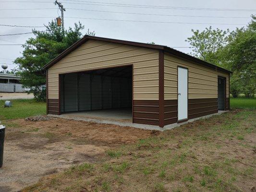
[[[48,71],[49,98],[59,98],[59,74],[134,66],[134,99],[158,100],[158,50],[88,40]]]

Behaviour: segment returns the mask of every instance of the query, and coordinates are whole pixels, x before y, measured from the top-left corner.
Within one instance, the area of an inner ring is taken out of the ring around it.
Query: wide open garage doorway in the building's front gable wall
[[[60,75],[61,114],[132,122],[132,66]]]

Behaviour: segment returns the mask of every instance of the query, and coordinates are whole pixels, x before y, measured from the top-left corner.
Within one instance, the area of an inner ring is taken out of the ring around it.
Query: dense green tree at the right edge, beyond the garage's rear
[[[256,89],[256,17],[252,15],[252,20],[247,27],[237,28],[228,39],[229,42],[223,49],[223,58],[235,73],[232,78],[240,81],[241,87],[238,90],[246,97],[254,97]],[[232,89],[235,88],[238,87],[232,87]]]

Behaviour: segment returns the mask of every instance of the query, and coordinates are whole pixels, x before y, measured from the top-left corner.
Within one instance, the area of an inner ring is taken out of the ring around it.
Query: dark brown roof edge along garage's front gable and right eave
[[[110,39],[110,38],[104,38],[104,37],[98,37],[98,36],[87,36],[85,35],[83,38],[75,42],[72,46],[64,50],[60,55],[58,55],[56,58],[51,60],[48,64],[43,66],[43,70],[47,70],[49,67],[57,63],[59,60],[61,60],[63,57],[68,55],[70,52],[72,52],[74,49],[78,48],[80,45],[84,44],[87,40],[93,39],[93,40],[99,40],[99,41],[106,41],[106,42],[111,42],[111,43],[120,43],[124,45],[131,45],[131,46],[136,46],[136,47],[141,47],[141,48],[151,48],[151,49],[158,49],[158,50],[163,50],[164,52],[170,53],[172,55],[194,61],[196,63],[205,65],[207,67],[213,68],[215,70],[219,70],[222,72],[227,72],[227,73],[232,73],[231,71],[228,71],[224,68],[221,68],[217,65],[213,65],[211,63],[208,63],[204,60],[197,59],[193,56],[190,56],[186,53],[183,53],[181,51],[178,51],[174,48],[170,48],[167,46],[162,46],[162,45],[155,45],[155,44],[147,44],[147,43],[138,43],[138,42],[133,42],[133,41],[125,41],[125,40],[119,40],[119,39]]]

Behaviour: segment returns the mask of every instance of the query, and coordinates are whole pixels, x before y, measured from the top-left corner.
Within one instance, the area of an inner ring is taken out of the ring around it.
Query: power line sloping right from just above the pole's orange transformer
[[[138,23],[159,23],[159,24],[219,24],[219,23],[185,23],[185,22],[160,22],[160,21],[135,21],[135,20],[118,20],[118,19],[97,19],[86,17],[66,17],[73,19],[90,19],[90,20],[103,20],[103,21],[122,21],[122,22],[138,22]],[[222,24],[221,24],[222,25]],[[227,25],[227,24],[225,24]],[[244,25],[244,24],[231,24],[231,25]]]

